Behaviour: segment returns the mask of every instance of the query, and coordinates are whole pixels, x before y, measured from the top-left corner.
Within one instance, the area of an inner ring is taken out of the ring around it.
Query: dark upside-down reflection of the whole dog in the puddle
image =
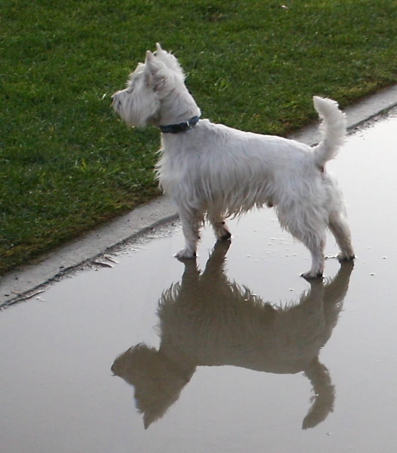
[[[114,374],[135,387],[145,428],[178,400],[200,365],[303,371],[314,391],[303,429],[314,427],[333,410],[335,389],[319,352],[338,321],[353,263],[343,262],[329,282],[310,280],[298,304],[275,308],[227,279],[224,258],[229,244],[216,243],[202,274],[194,260],[185,260],[182,282],[163,293],[158,309],[160,348],[140,343],[114,361]]]

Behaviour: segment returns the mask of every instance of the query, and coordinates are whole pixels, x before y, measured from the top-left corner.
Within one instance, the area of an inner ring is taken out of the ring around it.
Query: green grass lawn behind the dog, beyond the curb
[[[156,41],[203,117],[245,130],[397,82],[394,0],[3,0],[0,24],[0,273],[158,194],[160,134],[110,109]]]

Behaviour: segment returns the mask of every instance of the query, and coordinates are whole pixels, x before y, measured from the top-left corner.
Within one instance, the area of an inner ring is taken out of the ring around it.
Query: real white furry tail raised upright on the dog
[[[337,155],[339,147],[345,142],[346,115],[332,99],[314,96],[313,104],[322,119],[320,130],[323,134],[321,142],[313,148],[313,157],[317,166],[324,167],[326,162]]]

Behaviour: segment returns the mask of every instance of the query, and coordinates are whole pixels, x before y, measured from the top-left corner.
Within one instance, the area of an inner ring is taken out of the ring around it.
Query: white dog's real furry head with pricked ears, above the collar
[[[188,93],[178,60],[158,43],[156,49],[154,53],[146,52],[145,62],[130,74],[127,87],[112,96],[112,107],[127,126],[160,125],[162,116],[170,116],[169,111],[177,107],[173,99],[163,106],[164,99],[170,98],[171,93],[176,98],[177,94]]]

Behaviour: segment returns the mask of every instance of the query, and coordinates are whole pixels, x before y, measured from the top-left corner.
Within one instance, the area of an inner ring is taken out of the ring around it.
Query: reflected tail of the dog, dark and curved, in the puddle
[[[331,383],[330,373],[325,365],[314,357],[304,369],[314,391],[314,402],[306,417],[303,419],[302,429],[313,428],[327,418],[334,410],[335,387]]]

